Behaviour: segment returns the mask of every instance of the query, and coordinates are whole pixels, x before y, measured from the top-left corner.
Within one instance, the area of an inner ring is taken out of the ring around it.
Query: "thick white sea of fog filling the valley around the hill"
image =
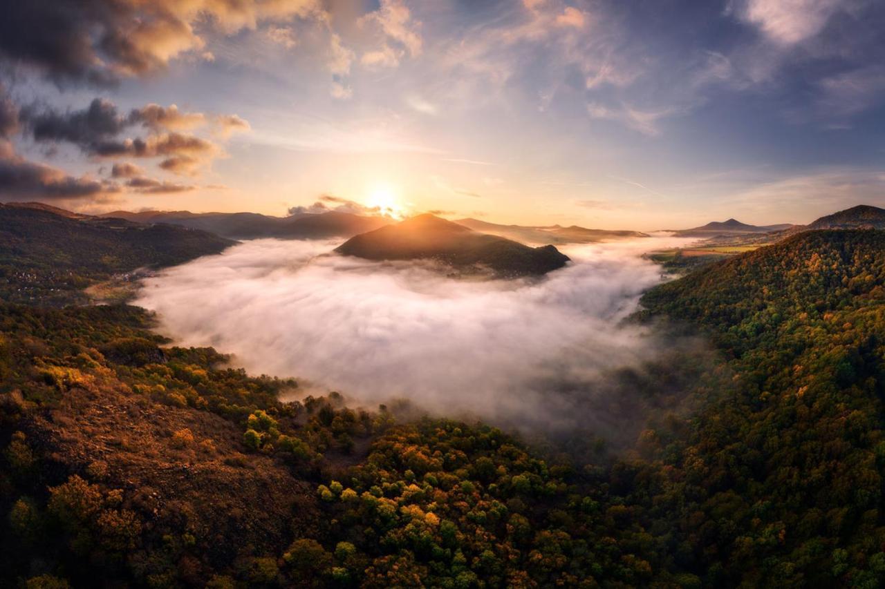
[[[296,377],[374,406],[407,398],[439,413],[580,418],[567,382],[593,394],[604,375],[661,343],[624,324],[662,280],[644,238],[561,248],[573,260],[543,279],[462,280],[427,264],[332,253],[333,241],[246,241],[144,281],[135,304],[159,332],[234,355],[253,374]]]

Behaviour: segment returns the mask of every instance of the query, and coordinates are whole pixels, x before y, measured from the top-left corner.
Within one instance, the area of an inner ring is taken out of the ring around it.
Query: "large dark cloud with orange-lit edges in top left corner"
[[[234,34],[293,17],[326,18],[318,0],[28,0],[4,6],[0,55],[58,82],[110,84],[203,52],[197,28]]]

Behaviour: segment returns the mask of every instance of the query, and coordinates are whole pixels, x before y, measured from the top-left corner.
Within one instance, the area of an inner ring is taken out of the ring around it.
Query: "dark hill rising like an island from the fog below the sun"
[[[569,261],[551,245],[530,248],[430,214],[357,235],[335,251],[368,260],[433,259],[460,268],[485,267],[502,278],[539,276]]]

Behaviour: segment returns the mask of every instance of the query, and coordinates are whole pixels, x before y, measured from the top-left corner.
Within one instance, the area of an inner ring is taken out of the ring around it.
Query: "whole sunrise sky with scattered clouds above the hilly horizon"
[[[878,0],[31,0],[0,201],[808,223],[885,206]]]

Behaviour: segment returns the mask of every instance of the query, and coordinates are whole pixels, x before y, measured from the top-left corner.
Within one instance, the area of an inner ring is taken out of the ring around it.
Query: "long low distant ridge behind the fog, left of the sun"
[[[352,213],[328,211],[324,213],[273,217],[251,212],[192,213],[189,210],[128,212],[115,210],[102,215],[105,218],[125,218],[138,223],[166,223],[202,229],[231,239],[307,240],[333,237],[352,237],[378,227],[389,225],[386,217],[364,217]]]

